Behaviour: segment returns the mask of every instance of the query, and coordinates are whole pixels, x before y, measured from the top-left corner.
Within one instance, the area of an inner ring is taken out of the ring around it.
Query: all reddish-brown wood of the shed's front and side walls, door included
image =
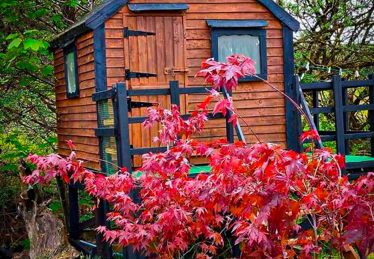
[[[154,2],[132,0],[131,3]],[[194,77],[203,60],[210,58],[211,32],[206,19],[266,19],[268,80],[278,89],[284,90],[282,24],[266,7],[256,0],[158,0],[158,3],[187,3],[185,12],[132,12],[127,5],[105,21],[105,45],[108,88],[116,82],[125,82],[125,69],[156,73],[157,77],[131,79],[126,82],[131,89],[167,88],[169,80],[179,80],[180,87],[202,86],[202,79]],[[123,28],[156,32],[156,36],[138,36],[124,39]],[[80,98],[66,99],[61,50],[55,51],[56,100],[61,121],[58,123],[59,152],[67,154],[67,139],[76,143],[78,154],[98,158],[98,141],[94,137],[96,108],[91,99],[95,90],[93,80],[92,33],[77,39]],[[163,69],[170,64],[189,68],[176,77],[165,75]],[[181,96],[182,112],[191,112],[203,100],[205,94]],[[170,107],[167,96],[133,97],[132,100],[155,101]],[[234,106],[246,122],[252,126],[261,141],[270,141],[286,147],[285,99],[262,82],[240,82],[233,92]],[[129,116],[144,114],[144,108],[133,109]],[[257,141],[248,127],[241,123],[246,141]],[[145,130],[140,124],[130,125],[130,138],[134,147],[158,146],[152,137],[158,127]],[[198,140],[207,141],[226,136],[224,119],[215,119],[206,124]],[[194,159],[195,162],[203,162]],[[135,156],[134,165],[141,165],[140,156]],[[98,168],[91,162],[91,167]]]

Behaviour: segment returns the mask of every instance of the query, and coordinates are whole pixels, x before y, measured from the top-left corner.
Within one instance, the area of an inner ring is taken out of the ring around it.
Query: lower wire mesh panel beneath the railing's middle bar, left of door
[[[117,144],[115,137],[102,137],[102,161],[104,172],[114,174],[118,171]]]

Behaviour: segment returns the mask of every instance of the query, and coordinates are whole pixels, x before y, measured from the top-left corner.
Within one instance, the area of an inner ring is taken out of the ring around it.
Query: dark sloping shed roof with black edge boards
[[[288,12],[282,9],[273,0],[257,0],[263,4],[269,11],[278,18],[283,24],[291,28],[293,31],[297,31],[299,28],[299,22],[293,18]],[[58,48],[65,42],[74,39],[74,37],[88,31],[89,29],[94,30],[105,22],[108,18],[113,16],[118,10],[128,3],[129,0],[104,0],[101,4],[93,7],[93,9],[83,15],[77,22],[70,25],[60,34],[58,34],[51,42],[51,48]]]

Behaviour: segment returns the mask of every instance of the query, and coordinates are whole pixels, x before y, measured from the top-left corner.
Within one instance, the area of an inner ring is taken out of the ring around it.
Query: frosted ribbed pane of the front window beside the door
[[[218,36],[218,61],[226,62],[230,55],[245,55],[256,61],[255,69],[261,74],[260,37],[252,35]]]

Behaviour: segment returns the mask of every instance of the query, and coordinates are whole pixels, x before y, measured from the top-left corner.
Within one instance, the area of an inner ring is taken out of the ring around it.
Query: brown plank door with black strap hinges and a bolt
[[[153,32],[154,35],[129,36],[125,38],[126,69],[141,73],[153,73],[156,77],[131,78],[126,81],[129,89],[169,88],[170,80],[179,80],[185,87],[184,73],[165,74],[164,68],[186,67],[184,57],[184,36],[182,16],[125,16],[124,24],[128,30]],[[185,113],[185,96],[181,95],[181,112]],[[170,109],[170,96],[132,97],[134,101],[160,103]],[[130,116],[143,116],[145,108],[132,109]],[[134,147],[159,146],[152,141],[158,136],[158,126],[144,129],[141,124],[130,127],[131,143]],[[140,156],[134,157],[134,166],[140,166]]]

